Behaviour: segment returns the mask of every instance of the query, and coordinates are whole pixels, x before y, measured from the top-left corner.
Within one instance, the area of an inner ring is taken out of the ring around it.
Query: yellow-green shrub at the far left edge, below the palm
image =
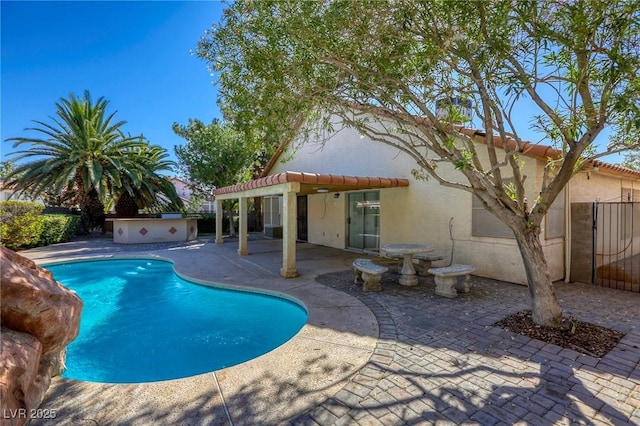
[[[35,246],[44,226],[42,210],[38,203],[0,202],[0,244],[11,250]]]

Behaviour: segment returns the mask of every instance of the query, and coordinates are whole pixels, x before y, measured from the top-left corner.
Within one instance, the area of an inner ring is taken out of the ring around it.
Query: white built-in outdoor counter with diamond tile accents
[[[195,217],[107,220],[113,222],[113,242],[117,244],[191,241],[198,237],[198,218]]]

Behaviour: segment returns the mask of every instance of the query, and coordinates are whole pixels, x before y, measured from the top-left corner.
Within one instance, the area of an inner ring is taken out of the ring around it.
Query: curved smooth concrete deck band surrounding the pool
[[[218,252],[219,260],[224,261],[219,247],[206,244],[201,249],[210,255]],[[373,354],[378,323],[357,298],[318,284],[314,276],[283,279],[258,270],[260,286],[206,280],[202,276],[215,262],[199,262],[194,269],[193,262],[186,262],[181,254],[184,252],[177,250],[62,256],[39,263],[127,258],[169,261],[176,274],[197,284],[301,302],[307,322],[288,342],[258,358],[184,379],[103,384],[54,378],[41,408],[55,411],[56,418],[36,419],[32,424],[278,424],[337,393]],[[242,259],[234,259],[234,264],[242,265]],[[253,266],[251,273],[256,274]]]

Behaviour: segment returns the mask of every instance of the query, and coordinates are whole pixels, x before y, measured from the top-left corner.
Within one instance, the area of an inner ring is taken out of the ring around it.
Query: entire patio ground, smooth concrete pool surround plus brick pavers
[[[89,238],[22,252],[38,262],[146,255],[184,275],[266,288],[305,302],[309,323],[255,360],[186,379],[105,385],[54,379],[33,425],[640,424],[640,294],[557,284],[575,318],[626,333],[602,359],[492,324],[528,308],[526,288],[472,277],[469,293],[434,295],[383,276],[353,284],[360,253],[298,243],[300,276],[283,279],[279,240],[117,246]]]

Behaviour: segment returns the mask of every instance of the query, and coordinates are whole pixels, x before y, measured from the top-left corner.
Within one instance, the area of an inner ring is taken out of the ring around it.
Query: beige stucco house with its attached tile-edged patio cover
[[[378,253],[386,243],[428,243],[444,263],[472,264],[476,275],[526,284],[513,234],[472,194],[414,178],[411,171],[417,166],[406,154],[341,126],[337,118],[333,121],[331,131],[299,132],[283,141],[261,178],[216,190],[217,203],[240,201],[239,254],[249,253],[247,199],[261,196],[265,227],[282,226],[284,277],[298,273],[296,240],[368,253]],[[460,132],[486,143],[482,131]],[[546,160],[559,153],[527,144],[523,154],[527,192],[535,194]],[[441,167],[448,178],[464,179],[453,167]],[[571,179],[542,223],[541,242],[553,280],[571,280],[576,225],[569,206],[596,201],[640,201],[640,172],[594,161]],[[640,222],[640,211],[633,220]],[[218,231],[221,226],[219,222]],[[640,224],[634,229],[640,232]],[[221,243],[221,232],[217,235]],[[639,243],[640,235],[634,241]]]

